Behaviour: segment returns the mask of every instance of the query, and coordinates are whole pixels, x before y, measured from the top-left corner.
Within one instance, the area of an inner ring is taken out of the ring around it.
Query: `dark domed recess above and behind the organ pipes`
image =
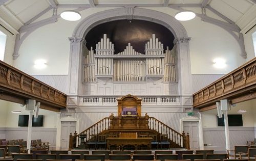
[[[130,42],[135,51],[145,53],[145,43],[156,34],[161,43],[169,49],[173,48],[174,35],[163,25],[143,20],[116,20],[95,26],[86,35],[87,48],[95,45],[106,34],[107,38],[114,43],[115,53],[123,51]]]

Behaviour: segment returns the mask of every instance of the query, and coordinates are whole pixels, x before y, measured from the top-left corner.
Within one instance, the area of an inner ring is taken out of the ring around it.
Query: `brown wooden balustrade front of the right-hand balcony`
[[[204,106],[214,104],[220,97],[222,97],[222,99],[228,99],[228,97],[238,98],[239,95],[236,92],[239,90],[246,91],[247,87],[256,84],[255,81],[256,58],[196,92],[193,95],[194,107],[203,108]],[[251,91],[251,89],[248,90]],[[228,93],[229,96],[225,96],[226,93]],[[248,100],[249,98],[244,99]]]

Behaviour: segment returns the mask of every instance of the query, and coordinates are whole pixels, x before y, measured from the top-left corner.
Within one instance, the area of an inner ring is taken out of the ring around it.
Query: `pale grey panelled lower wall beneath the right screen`
[[[204,149],[226,150],[224,127],[203,128],[203,135],[204,144],[207,144]],[[254,127],[229,127],[229,139],[231,147],[246,145],[247,141],[254,140]]]

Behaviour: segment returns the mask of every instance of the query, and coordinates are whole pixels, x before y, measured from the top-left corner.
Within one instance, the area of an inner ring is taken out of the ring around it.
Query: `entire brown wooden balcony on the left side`
[[[66,108],[67,95],[0,61],[0,99],[20,104],[35,99],[41,109],[58,112]]]

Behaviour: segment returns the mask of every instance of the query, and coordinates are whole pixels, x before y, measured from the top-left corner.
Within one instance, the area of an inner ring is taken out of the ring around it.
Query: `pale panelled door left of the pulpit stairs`
[[[76,131],[75,121],[61,121],[61,140],[60,140],[60,150],[69,149],[69,135],[70,133]]]

